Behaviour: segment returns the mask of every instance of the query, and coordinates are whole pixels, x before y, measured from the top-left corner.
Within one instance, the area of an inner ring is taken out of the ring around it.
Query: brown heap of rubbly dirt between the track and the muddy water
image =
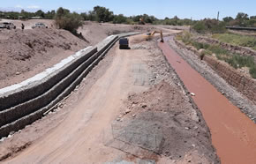
[[[197,162],[218,161],[206,124],[177,87],[162,81],[147,92],[130,95],[125,104],[122,115],[112,125],[117,140],[172,160],[197,152],[202,160]]]

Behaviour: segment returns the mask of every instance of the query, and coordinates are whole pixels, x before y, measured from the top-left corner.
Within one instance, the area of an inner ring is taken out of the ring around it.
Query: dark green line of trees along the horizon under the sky
[[[153,25],[172,25],[172,26],[192,26],[197,32],[207,32],[211,31],[213,33],[222,32],[225,30],[225,26],[252,26],[256,27],[256,16],[249,17],[248,14],[239,12],[236,18],[225,17],[222,20],[217,19],[202,19],[202,20],[192,20],[192,19],[179,19],[177,16],[174,18],[157,19],[154,16],[147,14],[136,15],[126,17],[123,14],[114,14],[113,11],[101,6],[95,6],[93,11],[87,11],[82,13],[71,12],[69,10],[63,9],[68,12],[69,17],[72,19],[80,20],[91,20],[97,22],[109,22],[114,24],[153,24]],[[56,19],[57,11],[36,11],[36,12],[3,12],[0,11],[0,19],[31,19],[34,17],[39,17],[41,19]],[[140,20],[143,21],[140,21]]]

